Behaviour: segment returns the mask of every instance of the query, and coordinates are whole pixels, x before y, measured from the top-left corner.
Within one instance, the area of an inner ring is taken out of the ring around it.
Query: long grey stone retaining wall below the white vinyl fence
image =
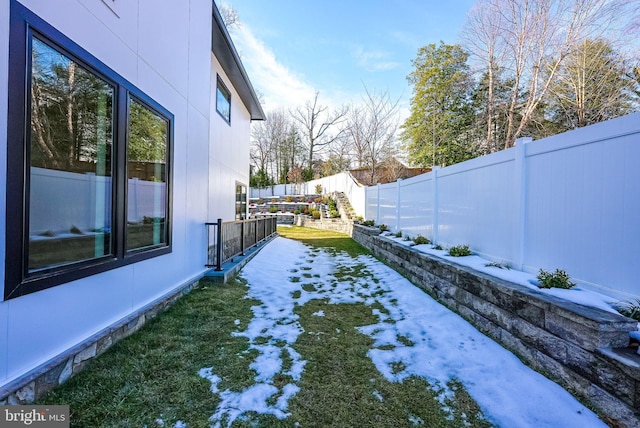
[[[411,282],[595,407],[611,426],[640,426],[637,322],[510,283],[353,226],[353,238]],[[544,411],[544,409],[540,409]]]

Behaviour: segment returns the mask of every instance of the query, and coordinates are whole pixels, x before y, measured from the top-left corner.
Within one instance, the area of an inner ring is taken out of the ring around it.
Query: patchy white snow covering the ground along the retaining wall
[[[352,278],[341,281],[335,275],[337,269],[344,272],[356,267],[358,274]],[[306,364],[304,355],[296,351],[296,340],[305,327],[294,308],[314,299],[326,299],[328,305],[375,304],[377,309],[372,308],[372,314],[378,322],[359,328],[375,340],[369,357],[389,381],[401,382],[409,376],[426,379],[442,391],[440,399],[445,409],[445,399],[453,393],[447,383],[456,378],[484,415],[501,427],[606,426],[560,386],[526,367],[373,257],[335,256],[278,237],[244,267],[241,275],[248,282],[248,297],[262,302],[252,308],[254,316],[249,325],[238,321],[233,333],[246,337],[258,353],[251,363],[255,384],[243,391],[221,391],[216,367],[203,367],[200,376],[211,382],[211,393],[220,398],[210,418],[212,427],[230,426],[252,411],[282,419],[291,416],[288,403],[300,390],[296,382],[304,376]],[[305,291],[303,286],[311,282],[314,291]],[[314,315],[321,317],[324,312]],[[274,378],[278,374],[289,375],[292,382],[277,387]],[[270,397],[278,397],[275,404]],[[380,394],[376,398],[384,400]],[[422,425],[415,415],[408,415],[407,421]],[[297,421],[292,423],[297,426]]]

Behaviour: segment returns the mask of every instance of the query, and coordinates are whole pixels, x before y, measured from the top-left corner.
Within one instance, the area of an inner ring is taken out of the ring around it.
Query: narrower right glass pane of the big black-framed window
[[[167,121],[129,100],[127,249],[166,245]]]

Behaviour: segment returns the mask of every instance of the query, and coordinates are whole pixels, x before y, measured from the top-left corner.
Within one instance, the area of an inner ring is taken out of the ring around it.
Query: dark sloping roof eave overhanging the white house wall
[[[240,60],[240,55],[231,41],[231,36],[229,36],[215,2],[213,2],[213,23],[211,26],[211,51],[238,92],[242,103],[249,111],[251,120],[264,120],[265,114],[258,96],[251,85],[249,76],[247,76]]]

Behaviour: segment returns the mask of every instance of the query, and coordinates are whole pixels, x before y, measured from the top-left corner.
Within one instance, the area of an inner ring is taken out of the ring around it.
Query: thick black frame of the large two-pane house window
[[[86,278],[172,251],[174,116],[77,43],[16,0],[10,2],[4,300]],[[115,88],[112,159],[112,254],[28,272],[31,39],[58,50]],[[166,244],[127,252],[127,103],[134,97],[167,120]]]

